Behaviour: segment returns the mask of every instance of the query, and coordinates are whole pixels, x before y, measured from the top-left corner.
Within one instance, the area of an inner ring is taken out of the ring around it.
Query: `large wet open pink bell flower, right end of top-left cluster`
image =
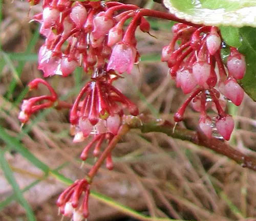
[[[125,71],[131,73],[136,60],[137,50],[126,43],[118,43],[114,46],[107,70],[115,70],[122,74]]]

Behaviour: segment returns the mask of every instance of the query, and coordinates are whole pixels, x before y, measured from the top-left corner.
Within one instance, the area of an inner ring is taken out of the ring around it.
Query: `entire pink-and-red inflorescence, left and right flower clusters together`
[[[28,1],[31,5],[40,2]],[[183,120],[190,103],[200,112],[199,126],[208,138],[212,136],[215,123],[219,134],[229,140],[234,122],[225,113],[225,106],[227,99],[238,106],[243,100],[244,91],[237,80],[245,74],[245,57],[230,47],[230,56],[226,64],[223,63],[223,39],[217,27],[194,25],[168,13],[118,2],[42,1],[42,13],[33,17],[41,24],[40,34],[46,38],[39,50],[38,69],[44,77],[67,77],[79,66],[91,80],[82,87],[73,104],[60,101],[45,80],[33,80],[28,85],[30,90],[44,84],[51,95],[24,100],[19,120],[26,123],[31,115],[49,107],[68,108],[73,141],[82,142],[93,136],[83,149],[81,160],[87,159],[92,146],[94,156],[100,156],[102,142],[110,143],[118,135],[124,110],[134,116],[139,114],[136,104],[116,89],[113,82],[121,79],[122,73],[131,73],[140,60],[135,31],[139,27],[142,32],[149,33],[150,23],[144,16],[182,22],[173,26],[174,37],[162,50],[162,61],[167,62],[170,76],[184,94],[190,94],[175,114],[175,121]],[[130,18],[124,30],[125,21]],[[178,48],[177,41],[180,42]],[[214,123],[206,113],[210,107],[217,112]],[[106,167],[112,169],[111,153],[105,160]],[[88,179],[76,181],[59,196],[57,205],[62,214],[73,217],[74,221],[88,217],[93,176],[89,173]]]

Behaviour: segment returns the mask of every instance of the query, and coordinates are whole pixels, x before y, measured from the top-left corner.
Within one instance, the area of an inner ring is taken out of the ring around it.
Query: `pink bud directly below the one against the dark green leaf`
[[[239,106],[244,98],[244,90],[234,78],[229,78],[225,82],[225,96],[234,104]]]

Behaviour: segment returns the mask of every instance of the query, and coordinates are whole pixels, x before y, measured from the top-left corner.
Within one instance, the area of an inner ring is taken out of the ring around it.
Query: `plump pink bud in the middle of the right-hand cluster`
[[[204,61],[196,61],[193,64],[193,75],[200,86],[204,86],[210,76],[210,64]]]

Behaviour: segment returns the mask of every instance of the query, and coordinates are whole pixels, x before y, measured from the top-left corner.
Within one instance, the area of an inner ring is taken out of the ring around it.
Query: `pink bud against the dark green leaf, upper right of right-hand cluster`
[[[239,53],[230,56],[227,60],[227,69],[230,76],[242,79],[246,71],[245,57]]]

